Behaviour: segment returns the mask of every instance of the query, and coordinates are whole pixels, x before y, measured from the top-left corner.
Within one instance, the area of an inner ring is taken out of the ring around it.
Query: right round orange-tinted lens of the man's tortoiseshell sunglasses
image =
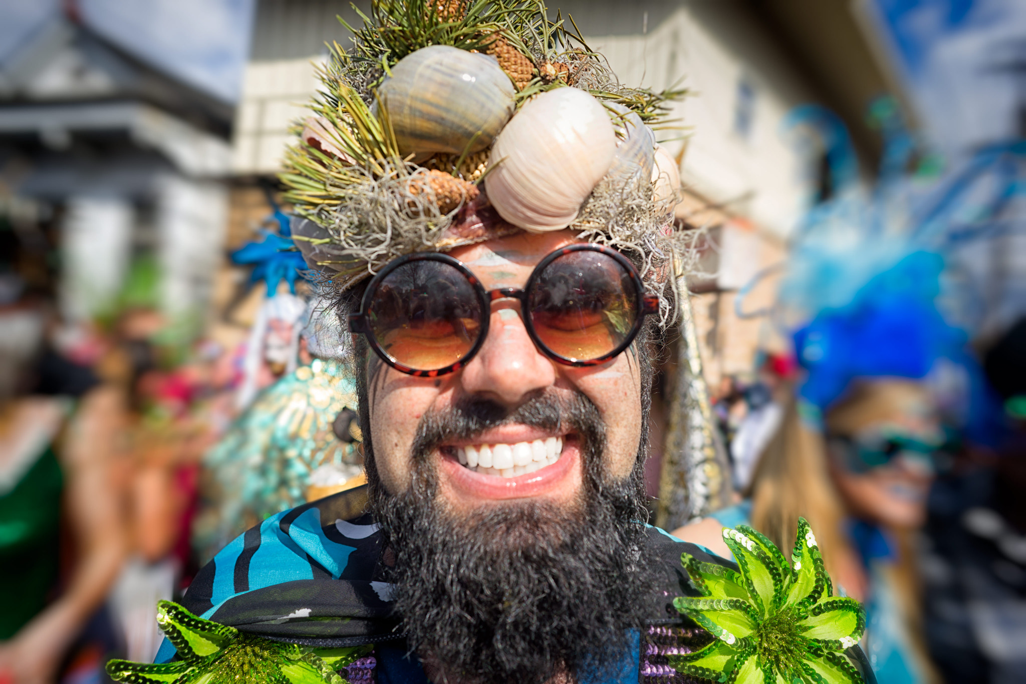
[[[638,318],[630,274],[611,256],[590,250],[567,252],[546,266],[527,293],[527,308],[542,344],[574,361],[615,351]]]

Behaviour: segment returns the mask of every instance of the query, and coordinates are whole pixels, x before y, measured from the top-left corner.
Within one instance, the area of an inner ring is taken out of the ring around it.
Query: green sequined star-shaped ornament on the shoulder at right
[[[833,596],[808,523],[798,519],[791,565],[747,525],[723,529],[740,572],[681,562],[702,598],[673,605],[716,637],[674,656],[678,672],[725,684],[863,684],[843,651],[859,642],[865,616],[857,601]]]

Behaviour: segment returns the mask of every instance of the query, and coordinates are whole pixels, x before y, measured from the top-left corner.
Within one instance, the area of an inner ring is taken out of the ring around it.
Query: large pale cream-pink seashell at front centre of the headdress
[[[507,222],[531,233],[574,222],[617,152],[601,103],[578,88],[556,88],[524,105],[496,138],[485,180]]]

